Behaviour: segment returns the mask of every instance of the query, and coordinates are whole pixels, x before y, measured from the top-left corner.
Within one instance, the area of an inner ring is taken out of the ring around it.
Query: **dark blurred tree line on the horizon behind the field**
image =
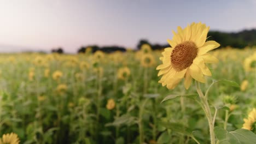
[[[228,32],[219,32],[219,31],[211,31],[208,33],[207,40],[215,40],[217,41],[221,47],[231,46],[238,49],[243,49],[246,46],[254,46],[256,45],[256,29],[244,30],[237,33],[228,33]],[[137,47],[135,50],[141,49],[143,44],[149,44],[152,47],[152,50],[161,50],[165,47],[170,47],[168,44],[151,44],[146,39],[139,40]],[[84,53],[88,47],[91,47],[92,52],[96,52],[97,50],[101,50],[106,53],[112,53],[115,51],[125,52],[127,47],[122,46],[97,46],[97,45],[88,45],[82,46],[78,49],[78,53]],[[52,52],[64,53],[61,47],[57,49],[53,49]]]

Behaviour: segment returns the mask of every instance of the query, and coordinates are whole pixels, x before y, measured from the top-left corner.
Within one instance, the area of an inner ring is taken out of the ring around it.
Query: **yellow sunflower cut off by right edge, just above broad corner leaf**
[[[243,121],[245,121],[245,123],[243,124],[242,129],[253,130],[253,124],[256,122],[256,109],[254,108],[249,113],[248,118],[244,118]]]

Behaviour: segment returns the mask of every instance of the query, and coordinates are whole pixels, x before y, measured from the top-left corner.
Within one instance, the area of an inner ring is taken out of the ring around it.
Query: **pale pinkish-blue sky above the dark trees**
[[[200,21],[238,32],[256,28],[255,8],[254,0],[0,0],[0,52],[166,44],[177,26]]]

